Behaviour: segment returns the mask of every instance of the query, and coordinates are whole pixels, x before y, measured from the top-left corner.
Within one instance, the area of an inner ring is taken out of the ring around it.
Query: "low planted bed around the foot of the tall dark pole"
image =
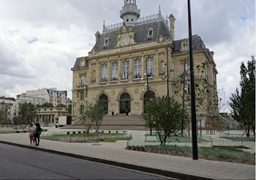
[[[198,147],[198,157],[206,160],[217,160],[233,163],[245,163],[255,165],[255,154],[243,152],[244,146],[213,146]],[[192,157],[192,147],[189,146],[127,146],[129,150],[154,152],[159,154],[169,154],[182,157]]]

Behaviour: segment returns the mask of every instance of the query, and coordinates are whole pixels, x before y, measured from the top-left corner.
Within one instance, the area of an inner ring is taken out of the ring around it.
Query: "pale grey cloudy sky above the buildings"
[[[75,59],[88,55],[94,34],[121,23],[123,0],[1,0],[0,96],[57,87],[71,98]],[[239,66],[255,54],[255,0],[191,0],[192,34],[215,52],[218,89],[239,85]],[[188,37],[187,0],[138,0],[141,16],[176,17],[176,39]]]

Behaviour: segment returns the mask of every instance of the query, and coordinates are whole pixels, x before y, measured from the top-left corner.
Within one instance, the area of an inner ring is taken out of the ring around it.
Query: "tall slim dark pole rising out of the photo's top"
[[[194,79],[194,64],[193,64],[193,49],[192,49],[192,25],[191,25],[191,10],[190,0],[187,0],[189,14],[189,57],[190,57],[190,79],[191,79],[191,117],[192,117],[192,149],[193,160],[198,160],[197,152],[197,119],[195,113],[195,79]]]

